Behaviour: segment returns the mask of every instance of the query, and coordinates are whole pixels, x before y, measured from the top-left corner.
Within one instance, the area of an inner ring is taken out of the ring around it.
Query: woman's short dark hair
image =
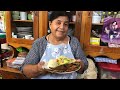
[[[66,11],[52,11],[49,17],[49,21],[52,22],[54,19],[58,18],[59,16],[67,16],[69,21],[71,18],[71,15]]]

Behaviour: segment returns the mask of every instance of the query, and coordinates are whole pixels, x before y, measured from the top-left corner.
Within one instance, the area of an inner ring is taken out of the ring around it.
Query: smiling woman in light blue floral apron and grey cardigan
[[[52,12],[49,20],[51,33],[33,43],[21,67],[25,76],[39,79],[76,79],[78,72],[55,74],[49,73],[43,68],[45,62],[61,55],[78,59],[82,65],[79,72],[87,69],[88,62],[79,41],[75,37],[67,35],[69,20],[70,16],[65,11]]]

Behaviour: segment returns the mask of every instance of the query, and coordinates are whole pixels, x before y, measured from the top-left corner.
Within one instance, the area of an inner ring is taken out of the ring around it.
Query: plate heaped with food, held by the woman
[[[48,71],[53,73],[72,72],[77,71],[81,67],[80,62],[75,59],[60,56],[57,59],[48,62]]]

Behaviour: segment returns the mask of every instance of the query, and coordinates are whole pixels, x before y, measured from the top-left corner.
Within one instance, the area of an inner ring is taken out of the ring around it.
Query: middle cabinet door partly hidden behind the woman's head
[[[46,26],[46,30],[47,30],[47,34],[50,33],[50,28],[48,25],[48,21],[49,21],[49,16],[51,14],[52,11],[47,11],[46,15],[47,15],[47,26]],[[70,18],[70,23],[69,23],[69,30],[68,30],[68,35],[72,35],[78,38],[78,40],[80,41],[80,30],[81,30],[81,19],[82,19],[82,11],[66,11],[71,15]]]

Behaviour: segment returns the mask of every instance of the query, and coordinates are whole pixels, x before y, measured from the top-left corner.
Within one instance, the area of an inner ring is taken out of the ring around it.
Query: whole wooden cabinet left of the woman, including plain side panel
[[[27,13],[26,20],[21,20],[20,12]],[[15,13],[19,13],[18,18],[15,18]],[[33,18],[28,16],[30,14],[33,15]],[[47,34],[46,11],[6,11],[5,23],[7,43],[12,46],[14,53],[15,48],[18,47],[30,49],[34,40]],[[26,39],[25,36],[29,34],[32,36],[32,38]]]

